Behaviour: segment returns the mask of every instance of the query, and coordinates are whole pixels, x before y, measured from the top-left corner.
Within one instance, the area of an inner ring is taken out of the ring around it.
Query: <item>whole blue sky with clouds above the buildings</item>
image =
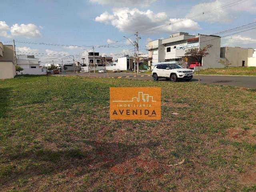
[[[256,21],[256,1],[241,0],[8,0],[1,2],[0,41],[44,42],[67,45],[104,45],[104,54],[132,49],[139,31],[141,51],[149,40],[168,38],[175,32],[213,34]],[[232,3],[234,3],[232,5]],[[203,16],[200,12],[231,6]],[[194,16],[194,17],[191,17]],[[179,19],[190,18],[184,22]],[[170,22],[176,22],[167,26]],[[167,25],[166,25],[167,24]],[[162,26],[161,28],[158,28]],[[256,26],[256,24],[254,24]],[[152,30],[153,28],[157,28]],[[222,45],[256,48],[256,30],[222,38]],[[122,40],[114,43],[116,40]],[[6,43],[8,44],[8,43]],[[10,43],[9,43],[10,44]],[[16,43],[18,51],[81,54],[83,48]],[[90,50],[91,47],[86,47]],[[127,52],[132,53],[132,52]],[[38,55],[41,57],[42,55]],[[118,55],[116,55],[118,56]],[[53,56],[56,57],[56,56]],[[78,56],[79,57],[79,56]]]

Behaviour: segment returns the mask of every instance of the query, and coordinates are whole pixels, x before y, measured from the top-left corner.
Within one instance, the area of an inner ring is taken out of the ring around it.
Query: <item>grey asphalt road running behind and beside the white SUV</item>
[[[85,76],[88,77],[88,73],[74,73],[74,72],[63,72],[60,75],[68,76]],[[91,73],[91,77],[107,77],[107,74]],[[126,78],[136,80],[136,74],[130,73],[109,73],[110,78]],[[137,74],[138,80],[153,80],[150,74]],[[165,81],[163,79],[163,81]],[[198,75],[194,75],[191,80],[192,82],[198,82]],[[256,76],[221,76],[221,75],[200,75],[200,82],[205,84],[219,84],[226,86],[245,87],[245,88],[256,88]]]

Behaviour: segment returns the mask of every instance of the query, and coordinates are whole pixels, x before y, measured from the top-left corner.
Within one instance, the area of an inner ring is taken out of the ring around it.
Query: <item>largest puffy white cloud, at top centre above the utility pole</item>
[[[113,9],[113,14],[108,12],[102,13],[95,18],[96,22],[111,24],[122,32],[142,32],[142,33],[156,33],[156,32],[177,32],[179,30],[196,30],[199,29],[197,22],[193,20],[184,20],[177,18],[168,18],[165,12],[155,14],[151,10],[140,11],[137,8],[118,8]],[[169,25],[170,22],[177,22]],[[150,30],[154,29],[154,30]]]

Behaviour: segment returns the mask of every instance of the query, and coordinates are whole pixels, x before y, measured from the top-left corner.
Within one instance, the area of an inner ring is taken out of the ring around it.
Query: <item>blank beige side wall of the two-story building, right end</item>
[[[209,44],[212,45],[212,48],[208,50],[209,55],[202,60],[202,69],[223,68],[223,65],[219,63],[220,39],[218,36],[199,35],[199,48],[202,49]]]

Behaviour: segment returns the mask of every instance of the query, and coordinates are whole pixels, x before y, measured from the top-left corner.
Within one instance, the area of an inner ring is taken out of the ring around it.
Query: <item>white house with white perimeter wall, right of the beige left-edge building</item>
[[[23,70],[18,74],[43,75],[46,70],[39,66],[39,59],[34,55],[16,55],[16,63]]]

